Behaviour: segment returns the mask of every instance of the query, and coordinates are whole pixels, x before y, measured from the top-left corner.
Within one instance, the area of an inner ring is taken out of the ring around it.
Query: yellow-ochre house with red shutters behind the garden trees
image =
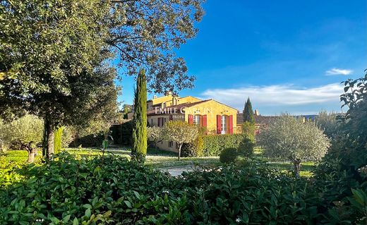
[[[237,109],[213,99],[168,95],[148,101],[148,126],[163,127],[170,120],[181,120],[205,127],[207,134],[231,134],[237,133],[237,113]],[[157,147],[177,151],[174,142],[160,142]]]

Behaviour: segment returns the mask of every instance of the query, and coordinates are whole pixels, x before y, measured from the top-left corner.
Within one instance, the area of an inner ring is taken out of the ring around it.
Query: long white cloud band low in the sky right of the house
[[[343,93],[342,85],[333,83],[319,87],[297,88],[294,85],[251,86],[230,89],[205,90],[204,99],[216,99],[236,109],[242,109],[243,103],[250,97],[256,107],[282,107],[288,109],[323,104],[339,104],[339,95]]]

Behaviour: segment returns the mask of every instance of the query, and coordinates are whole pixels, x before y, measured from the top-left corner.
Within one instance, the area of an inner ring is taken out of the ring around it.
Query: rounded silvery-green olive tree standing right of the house
[[[299,176],[302,160],[320,160],[330,147],[330,140],[313,121],[283,115],[261,130],[258,142],[267,157],[289,159]]]

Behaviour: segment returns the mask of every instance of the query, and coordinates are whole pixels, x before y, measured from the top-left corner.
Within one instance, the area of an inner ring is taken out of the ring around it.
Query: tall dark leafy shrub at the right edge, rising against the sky
[[[345,93],[340,100],[344,107],[348,107],[341,119],[338,133],[332,138],[332,147],[317,176],[335,174],[335,176],[349,177],[351,184],[367,181],[366,176],[361,176],[360,169],[367,165],[367,73],[363,78],[347,80],[344,82]],[[337,163],[336,168],[323,166],[330,162]],[[353,185],[350,187],[355,188]],[[344,193],[344,192],[343,192]],[[350,194],[350,193],[349,193]]]

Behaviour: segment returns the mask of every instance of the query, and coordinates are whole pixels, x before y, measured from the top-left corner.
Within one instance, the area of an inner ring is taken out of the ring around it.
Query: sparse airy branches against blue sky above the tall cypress
[[[111,1],[111,44],[128,75],[145,68],[150,90],[164,93],[193,87],[186,62],[175,49],[195,37],[195,23],[203,17],[205,0]],[[108,2],[108,1],[107,1]]]

